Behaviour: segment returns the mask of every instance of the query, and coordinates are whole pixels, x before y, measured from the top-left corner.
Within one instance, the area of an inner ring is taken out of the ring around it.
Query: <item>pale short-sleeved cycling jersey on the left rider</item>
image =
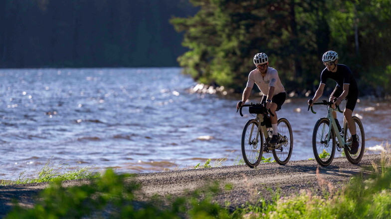
[[[281,83],[280,77],[278,76],[277,70],[267,67],[267,72],[265,76],[261,76],[261,73],[254,69],[248,74],[248,81],[246,87],[253,87],[254,83],[258,86],[258,88],[261,90],[261,92],[264,95],[267,95],[267,92],[269,92],[269,87],[274,87],[274,93],[275,94],[285,92],[285,88]]]

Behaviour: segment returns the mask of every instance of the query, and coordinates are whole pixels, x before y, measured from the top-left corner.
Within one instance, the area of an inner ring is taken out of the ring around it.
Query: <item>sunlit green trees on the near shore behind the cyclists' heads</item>
[[[190,1],[196,15],[171,22],[190,49],[181,66],[202,83],[241,92],[253,56],[264,52],[287,90],[303,95],[317,88],[321,57],[334,50],[362,95],[391,94],[391,0]]]

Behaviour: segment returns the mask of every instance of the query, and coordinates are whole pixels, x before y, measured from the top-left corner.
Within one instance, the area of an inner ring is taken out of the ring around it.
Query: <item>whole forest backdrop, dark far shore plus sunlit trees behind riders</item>
[[[0,19],[0,68],[181,66],[240,93],[264,52],[303,95],[334,50],[362,94],[391,94],[391,0],[1,0]]]

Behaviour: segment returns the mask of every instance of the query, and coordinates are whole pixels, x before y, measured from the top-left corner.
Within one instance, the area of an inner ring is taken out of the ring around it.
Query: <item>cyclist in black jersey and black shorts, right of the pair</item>
[[[350,153],[355,154],[359,148],[356,135],[356,124],[352,119],[353,110],[359,96],[359,89],[352,71],[346,65],[338,64],[338,54],[334,51],[327,51],[322,56],[323,64],[326,68],[321,73],[321,79],[318,90],[312,99],[308,100],[308,105],[312,106],[322,95],[327,78],[337,82],[334,91],[330,95],[330,100],[336,105],[340,105],[344,99],[347,99],[344,110],[344,117],[348,122],[350,133],[352,134],[352,147]],[[341,132],[341,126],[337,120],[337,113],[333,112],[333,117]]]

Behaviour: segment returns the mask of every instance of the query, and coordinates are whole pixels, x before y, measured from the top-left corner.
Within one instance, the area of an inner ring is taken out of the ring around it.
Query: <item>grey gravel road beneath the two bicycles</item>
[[[209,182],[218,181],[220,185],[231,184],[230,191],[215,197],[220,204],[230,203],[235,208],[246,202],[255,202],[260,197],[271,199],[276,190],[280,195],[297,194],[307,189],[321,194],[325,189],[341,188],[350,177],[365,173],[365,167],[379,163],[380,154],[365,155],[362,161],[353,165],[345,157],[335,158],[330,166],[321,167],[315,160],[289,161],[286,165],[261,163],[256,168],[246,165],[222,166],[205,169],[177,170],[137,174],[136,180],[142,185],[143,197],[158,194],[183,195],[186,190],[195,190]],[[64,186],[77,186],[88,180],[63,182]],[[0,218],[12,207],[12,200],[22,206],[32,207],[34,196],[46,188],[48,183],[0,186]]]

